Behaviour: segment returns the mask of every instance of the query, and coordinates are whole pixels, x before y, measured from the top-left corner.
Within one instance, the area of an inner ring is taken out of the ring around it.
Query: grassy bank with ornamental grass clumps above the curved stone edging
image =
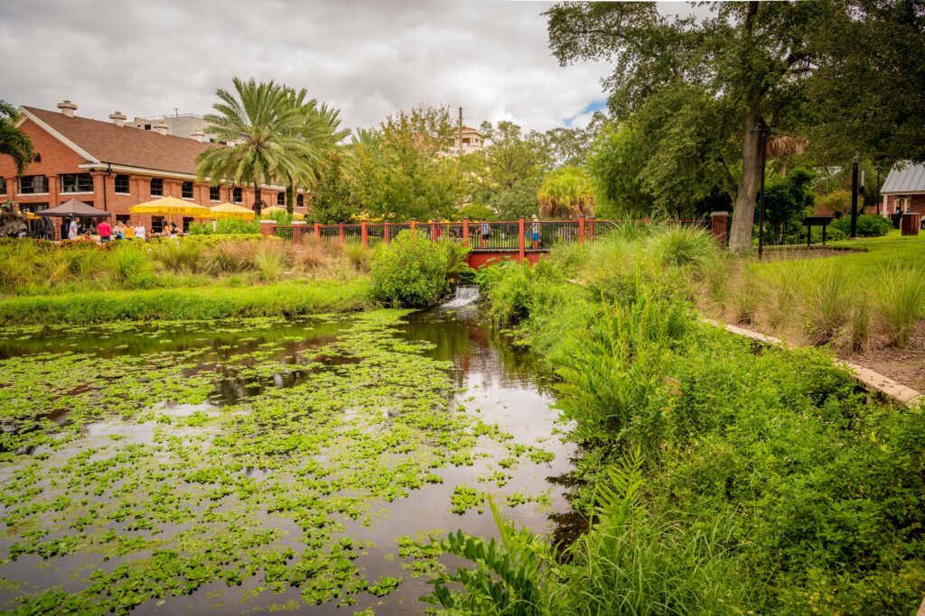
[[[838,356],[925,388],[925,236],[893,231],[833,247],[866,251],[730,259],[709,272],[698,305],[795,344],[829,345]]]

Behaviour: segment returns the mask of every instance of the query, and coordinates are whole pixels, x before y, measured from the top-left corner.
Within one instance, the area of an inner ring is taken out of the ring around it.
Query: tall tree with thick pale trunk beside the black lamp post
[[[755,199],[759,190],[759,132],[765,123],[788,129],[795,121],[808,79],[822,55],[820,42],[833,15],[844,6],[832,2],[729,2],[711,6],[710,18],[663,18],[654,3],[564,3],[553,6],[549,46],[561,64],[581,59],[615,60],[605,80],[611,111],[632,115],[666,91],[700,94],[677,110],[684,125],[675,125],[673,143],[683,145],[685,126],[699,108],[713,115],[718,138],[737,146],[735,159],[722,151],[713,157],[722,167],[734,200],[730,247],[751,248]],[[668,96],[669,101],[677,101]],[[701,103],[709,102],[708,105]],[[722,114],[716,114],[722,110]],[[696,128],[695,128],[696,129]],[[672,152],[660,152],[664,159]],[[676,149],[675,158],[685,156]],[[661,168],[670,168],[667,161]]]

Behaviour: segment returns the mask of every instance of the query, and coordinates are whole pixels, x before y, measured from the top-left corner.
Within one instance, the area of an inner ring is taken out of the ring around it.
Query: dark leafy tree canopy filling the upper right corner
[[[806,100],[810,148],[886,169],[925,162],[925,9],[909,0],[847,0],[829,19]]]

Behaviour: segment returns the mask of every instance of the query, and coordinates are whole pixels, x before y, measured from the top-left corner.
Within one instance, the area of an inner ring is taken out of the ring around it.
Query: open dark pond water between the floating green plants
[[[367,359],[362,351],[326,352],[341,336],[346,335],[345,332],[350,331],[355,319],[332,317],[290,323],[279,320],[250,320],[245,323],[177,322],[156,326],[125,325],[70,330],[33,328],[7,332],[6,337],[0,337],[0,360],[31,361],[38,368],[43,366],[42,362],[55,361],[57,356],[80,354],[81,361],[91,364],[98,362],[104,366],[99,368],[101,374],[105,375],[103,382],[97,382],[95,379],[100,377],[94,373],[94,381],[87,383],[90,389],[105,389],[107,382],[116,383],[114,386],[118,387],[128,387],[121,384],[123,381],[120,379],[126,377],[119,373],[118,368],[105,368],[118,366],[121,361],[154,361],[156,365],[169,369],[172,358],[176,357],[173,365],[176,371],[166,377],[163,399],[157,400],[157,392],[161,390],[151,394],[153,397],[150,400],[154,402],[151,405],[154,409],[153,417],[149,413],[128,420],[88,420],[80,425],[74,441],[51,448],[46,445],[31,447],[28,453],[0,464],[0,486],[6,488],[8,484],[12,487],[14,484],[9,482],[17,479],[18,473],[32,464],[35,456],[40,461],[36,464],[46,465],[43,468],[54,468],[56,461],[63,464],[71,456],[78,456],[88,450],[95,452],[96,448],[108,451],[105,448],[111,449],[116,445],[124,447],[132,443],[152,446],[166,439],[165,430],[169,430],[169,438],[185,440],[183,443],[189,441],[191,448],[200,448],[207,455],[210,440],[221,436],[227,424],[205,423],[199,427],[190,422],[185,425],[183,421],[187,418],[221,417],[227,410],[232,415],[247,414],[253,411],[250,407],[252,401],[265,400],[267,396],[281,396],[280,399],[285,400],[287,392],[294,393],[314,386],[318,374],[327,371],[352,374],[351,370],[365,369]],[[370,608],[376,614],[421,613],[426,606],[418,598],[429,591],[427,577],[414,577],[407,568],[401,566],[401,559],[396,556],[399,537],[423,540],[425,534],[443,536],[457,528],[474,535],[496,535],[487,505],[469,508],[465,513],[450,511],[450,501],[457,486],[473,487],[491,494],[499,503],[502,513],[520,525],[543,534],[556,531],[561,514],[569,511],[564,489],[558,479],[570,471],[573,450],[560,440],[559,431],[565,427],[555,423],[557,413],[550,408],[549,383],[537,365],[538,358],[524,349],[514,347],[498,332],[487,328],[479,319],[475,306],[414,313],[404,317],[404,321],[396,325],[390,335],[409,343],[428,343],[423,355],[446,362],[441,369],[444,374],[449,374],[450,382],[456,388],[454,393],[447,394],[450,396],[448,408],[477,418],[485,424],[497,424],[497,429],[510,433],[513,440],[480,437],[475,447],[468,452],[471,453],[468,464],[443,465],[434,469],[434,474],[442,482],[424,483],[416,489],[410,489],[406,496],[391,501],[371,497],[370,502],[366,503],[370,506],[364,517],[332,516],[332,520],[336,517],[339,524],[333,539],[350,537],[355,544],[364,546],[353,564],[366,580],[372,582],[383,576],[401,577],[401,584],[381,598],[368,592],[357,592],[353,595],[355,604],[338,607],[334,600],[320,605],[306,605],[301,598],[301,588],[297,586],[278,588],[280,592],[261,592],[259,576],[245,578],[240,586],[229,586],[224,581],[213,580],[199,586],[189,595],[154,596],[138,605],[135,613],[237,614],[245,611],[294,610],[299,613],[349,614]],[[13,364],[8,366],[12,367]],[[195,403],[184,403],[179,401],[182,395],[171,393],[174,388],[181,391],[187,387],[188,380],[197,379],[204,380],[198,384],[198,387],[204,388],[203,399],[197,399]],[[413,385],[404,383],[401,387],[404,389],[400,394],[413,400],[413,392],[409,395],[407,391]],[[0,386],[0,393],[2,391]],[[71,395],[77,396],[74,400],[79,399],[78,393]],[[7,404],[10,404],[8,400]],[[350,416],[353,412],[351,408],[345,403],[339,413]],[[67,406],[57,408],[43,417],[53,418],[57,424],[67,427],[77,414],[77,411],[68,409]],[[233,421],[233,418],[230,420]],[[171,421],[175,423],[171,424]],[[536,451],[541,450],[547,455],[536,461],[529,456],[522,456],[512,467],[499,465],[499,461],[510,459],[512,442],[522,448],[536,447]],[[395,460],[400,462],[401,456],[413,458],[416,454],[402,453],[395,456]],[[338,456],[343,459],[342,453],[336,449],[323,450],[316,456],[316,460],[323,466],[327,459]],[[348,466],[363,465],[362,457],[348,463]],[[360,472],[362,468],[357,470],[344,467],[341,470]],[[248,468],[244,472],[258,482],[271,478],[276,480],[280,475],[278,469]],[[485,480],[499,473],[506,476],[503,481],[491,483]],[[121,479],[123,482],[129,480],[130,477]],[[47,478],[42,478],[36,485],[41,487],[47,481]],[[16,484],[16,488],[21,491],[24,488],[20,483]],[[344,490],[343,493],[347,494],[348,491]],[[185,494],[179,492],[180,501],[185,498]],[[538,501],[518,504],[514,495],[540,498]],[[506,501],[512,496],[514,503]],[[105,495],[102,501],[105,505],[112,504],[105,501]],[[6,516],[17,512],[22,504],[7,502],[6,505],[0,505],[0,514]],[[233,508],[234,505],[227,506]],[[195,507],[192,509],[196,510]],[[277,541],[278,546],[289,546],[296,553],[304,549],[307,538],[303,526],[300,527],[285,515],[263,513],[260,508],[252,511],[260,512],[257,514],[259,519],[255,521],[256,525],[279,531],[281,538]],[[131,564],[152,553],[142,548],[113,557],[112,554],[104,555],[100,550],[88,548],[70,550],[64,555],[53,555],[47,559],[27,553],[17,560],[9,560],[8,555],[14,544],[43,524],[50,531],[43,537],[44,540],[65,537],[68,532],[73,534],[64,525],[53,524],[41,516],[29,518],[22,525],[12,523],[9,518],[6,524],[0,524],[0,610],[14,608],[18,598],[24,594],[32,595],[53,586],[61,586],[68,593],[80,592],[87,586],[88,576],[94,570],[112,572],[121,562]],[[183,521],[176,525],[160,525],[156,532],[163,537],[179,536],[188,525]],[[222,531],[216,528],[218,532]],[[441,561],[448,566],[455,564],[446,556]]]

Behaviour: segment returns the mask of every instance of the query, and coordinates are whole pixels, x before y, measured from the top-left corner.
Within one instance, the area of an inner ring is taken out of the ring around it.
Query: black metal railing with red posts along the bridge
[[[579,218],[570,221],[540,221],[521,218],[516,221],[430,221],[408,223],[293,223],[280,226],[272,221],[262,221],[261,231],[265,236],[301,244],[314,241],[336,242],[346,246],[375,248],[388,244],[392,238],[406,229],[416,229],[432,241],[452,241],[466,244],[473,252],[512,252],[520,259],[527,252],[546,251],[557,244],[584,244],[607,236],[625,224],[648,224],[643,221],[596,220]],[[728,214],[715,212],[709,220],[676,220],[672,223],[696,226],[710,230],[718,240],[724,242],[728,226]],[[722,234],[722,237],[721,237]]]

